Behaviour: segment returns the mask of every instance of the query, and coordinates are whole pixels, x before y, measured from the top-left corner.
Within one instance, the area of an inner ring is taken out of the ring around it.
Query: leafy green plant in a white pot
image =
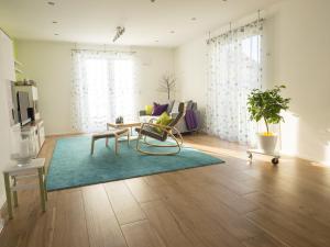
[[[292,99],[280,96],[285,86],[275,86],[274,89],[262,91],[254,89],[248,97],[248,110],[250,119],[256,122],[263,120],[266,125],[266,132],[257,133],[260,149],[266,153],[274,153],[277,135],[270,132],[270,124],[278,124],[284,122],[280,111],[288,110]]]

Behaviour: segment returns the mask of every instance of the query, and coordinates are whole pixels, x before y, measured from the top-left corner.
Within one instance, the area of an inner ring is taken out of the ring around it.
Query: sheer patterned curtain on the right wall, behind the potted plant
[[[262,32],[257,21],[208,41],[207,131],[222,139],[254,145],[249,92],[262,86]]]

